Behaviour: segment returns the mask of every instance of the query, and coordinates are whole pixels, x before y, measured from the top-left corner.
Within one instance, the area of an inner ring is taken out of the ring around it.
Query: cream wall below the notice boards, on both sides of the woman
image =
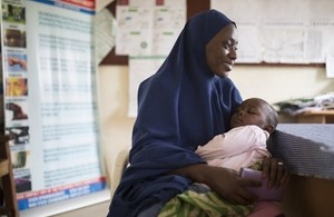
[[[135,119],[127,117],[127,70],[125,66],[99,67],[101,138],[108,172],[116,154],[131,141]],[[271,103],[334,91],[334,79],[326,78],[322,67],[235,66],[229,77],[243,98],[256,96]]]

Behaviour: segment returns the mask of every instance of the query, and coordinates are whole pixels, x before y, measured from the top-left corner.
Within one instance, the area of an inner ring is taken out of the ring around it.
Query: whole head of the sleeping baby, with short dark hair
[[[256,125],[272,134],[278,125],[278,115],[267,101],[249,98],[243,101],[230,118],[230,128],[246,125]]]

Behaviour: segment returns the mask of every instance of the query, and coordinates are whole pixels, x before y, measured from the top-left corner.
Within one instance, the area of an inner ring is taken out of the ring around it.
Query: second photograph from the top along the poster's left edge
[[[19,29],[6,29],[3,43],[7,47],[26,48],[26,31]]]

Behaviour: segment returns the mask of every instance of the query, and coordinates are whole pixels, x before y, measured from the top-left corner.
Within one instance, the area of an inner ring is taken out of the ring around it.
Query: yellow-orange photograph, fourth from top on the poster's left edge
[[[22,97],[28,96],[28,79],[19,77],[6,78],[6,96]]]

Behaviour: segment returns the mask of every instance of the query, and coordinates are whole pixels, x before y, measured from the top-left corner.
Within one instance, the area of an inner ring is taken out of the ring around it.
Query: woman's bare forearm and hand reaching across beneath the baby
[[[239,205],[247,205],[257,200],[257,197],[248,193],[245,187],[261,186],[261,183],[256,180],[239,177],[235,170],[204,164],[179,168],[169,174],[186,176],[195,183],[206,184],[219,196]]]

